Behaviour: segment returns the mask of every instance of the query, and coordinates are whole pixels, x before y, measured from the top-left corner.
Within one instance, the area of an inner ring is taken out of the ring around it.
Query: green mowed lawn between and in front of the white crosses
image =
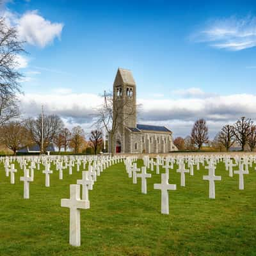
[[[139,161],[138,166],[142,162]],[[16,166],[17,167],[17,166]],[[16,184],[0,167],[0,255],[256,255],[256,171],[244,175],[244,190],[238,175],[228,177],[218,164],[216,200],[210,200],[209,183],[202,180],[207,170],[186,173],[186,188],[180,188],[180,173],[170,170],[170,214],[161,214],[161,192],[153,189],[161,176],[152,173],[148,194],[141,182],[132,184],[123,163],[106,169],[90,191],[91,209],[81,210],[81,246],[68,244],[69,209],[60,207],[69,198],[69,184],[81,172],[63,171],[45,175],[35,171],[30,199],[23,199],[23,182]],[[164,170],[161,170],[164,172]]]

